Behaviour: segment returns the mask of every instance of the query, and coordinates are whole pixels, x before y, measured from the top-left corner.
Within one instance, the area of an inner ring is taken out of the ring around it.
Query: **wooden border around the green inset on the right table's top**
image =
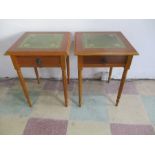
[[[108,34],[115,35],[123,42],[126,48],[84,48],[83,34]],[[121,32],[76,32],[75,33],[75,55],[79,56],[129,56],[138,55],[136,49],[130,44]]]

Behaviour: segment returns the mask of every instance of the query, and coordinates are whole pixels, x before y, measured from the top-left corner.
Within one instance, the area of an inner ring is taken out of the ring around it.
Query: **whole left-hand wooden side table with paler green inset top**
[[[62,69],[65,106],[68,106],[66,70],[69,83],[69,48],[69,32],[26,32],[6,52],[6,55],[10,55],[12,59],[30,107],[32,103],[21,67],[33,67],[38,83],[37,67],[60,67]]]

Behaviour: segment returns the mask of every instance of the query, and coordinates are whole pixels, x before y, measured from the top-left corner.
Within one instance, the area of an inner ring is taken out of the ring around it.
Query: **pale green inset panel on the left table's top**
[[[29,34],[18,48],[59,49],[64,34]]]

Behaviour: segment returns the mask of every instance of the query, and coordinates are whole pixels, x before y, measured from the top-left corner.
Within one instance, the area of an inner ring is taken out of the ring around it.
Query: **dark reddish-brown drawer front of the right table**
[[[99,66],[124,66],[127,62],[127,56],[84,56],[84,65],[99,65]]]

